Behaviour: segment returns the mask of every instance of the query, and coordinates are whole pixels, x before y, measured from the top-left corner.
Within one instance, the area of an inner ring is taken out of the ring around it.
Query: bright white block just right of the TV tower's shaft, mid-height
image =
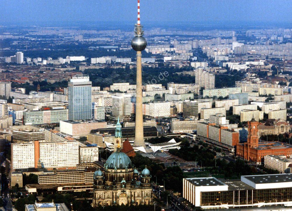
[[[150,117],[170,116],[170,102],[151,102],[149,103]]]

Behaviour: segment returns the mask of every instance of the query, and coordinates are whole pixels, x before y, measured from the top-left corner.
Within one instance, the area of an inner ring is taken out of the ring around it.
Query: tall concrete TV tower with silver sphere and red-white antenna
[[[137,51],[137,78],[136,78],[136,120],[135,120],[135,141],[134,146],[145,147],[143,134],[143,110],[142,110],[142,64],[141,51],[147,46],[147,41],[143,37],[143,26],[140,24],[140,0],[138,0],[138,21],[135,24],[135,37],[131,42],[132,48]]]

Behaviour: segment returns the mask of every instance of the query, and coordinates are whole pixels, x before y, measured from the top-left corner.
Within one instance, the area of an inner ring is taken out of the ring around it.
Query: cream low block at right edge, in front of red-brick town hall
[[[279,171],[279,173],[290,173],[289,164],[292,159],[286,159],[286,156],[266,155],[264,157],[265,168]]]

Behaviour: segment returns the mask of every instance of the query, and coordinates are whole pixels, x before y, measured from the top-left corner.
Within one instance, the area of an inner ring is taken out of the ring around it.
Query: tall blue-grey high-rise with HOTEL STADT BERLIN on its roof
[[[69,120],[92,118],[91,81],[89,76],[72,77],[68,82]]]

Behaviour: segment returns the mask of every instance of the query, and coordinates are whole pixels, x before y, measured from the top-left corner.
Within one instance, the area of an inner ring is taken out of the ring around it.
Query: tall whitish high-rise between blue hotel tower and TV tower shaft
[[[115,117],[130,116],[132,110],[131,95],[116,93],[112,95],[112,115]]]

